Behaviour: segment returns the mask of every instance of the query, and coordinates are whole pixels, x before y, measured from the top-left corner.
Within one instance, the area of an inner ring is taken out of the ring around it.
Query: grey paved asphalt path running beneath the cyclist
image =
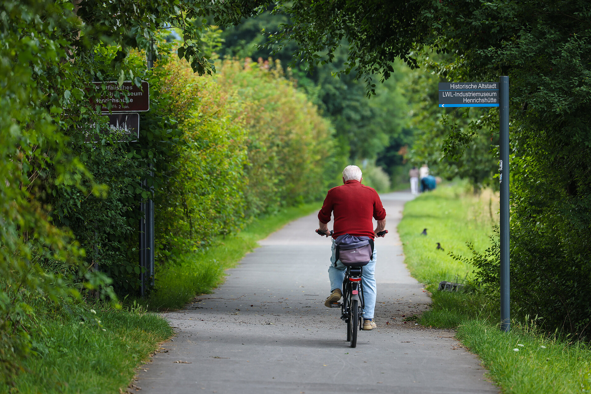
[[[323,305],[330,240],[314,233],[314,213],[259,242],[215,293],[164,314],[177,335],[135,385],[144,394],[498,393],[453,331],[402,323],[430,302],[395,231],[410,199],[382,195],[389,234],[375,243],[378,328],[360,331],[355,349],[340,309]]]

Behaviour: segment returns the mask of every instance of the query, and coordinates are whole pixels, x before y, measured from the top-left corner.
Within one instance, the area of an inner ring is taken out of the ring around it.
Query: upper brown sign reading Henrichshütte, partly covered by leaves
[[[150,110],[150,86],[142,81],[141,87],[131,81],[125,81],[122,86],[116,81],[93,82],[95,89],[100,92],[95,105],[101,107],[102,113],[111,112],[145,112]],[[104,90],[101,90],[104,88]]]

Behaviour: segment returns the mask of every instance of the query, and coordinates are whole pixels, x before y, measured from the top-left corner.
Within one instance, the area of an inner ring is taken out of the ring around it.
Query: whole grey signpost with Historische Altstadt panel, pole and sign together
[[[509,77],[499,82],[441,82],[439,106],[499,107],[499,183],[501,184],[501,329],[511,328],[509,305]]]

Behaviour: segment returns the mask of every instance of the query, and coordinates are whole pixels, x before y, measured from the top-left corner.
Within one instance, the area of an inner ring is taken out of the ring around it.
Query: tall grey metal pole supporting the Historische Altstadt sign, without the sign
[[[501,330],[511,329],[509,305],[509,77],[499,80],[499,163],[501,183]]]

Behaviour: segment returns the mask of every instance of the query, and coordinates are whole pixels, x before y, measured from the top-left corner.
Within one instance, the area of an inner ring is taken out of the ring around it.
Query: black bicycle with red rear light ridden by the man
[[[326,233],[320,233],[320,236],[326,236]],[[383,237],[388,233],[388,230],[377,233],[378,237]],[[333,231],[330,230],[330,236]],[[363,308],[365,308],[365,299],[363,298],[363,282],[362,282],[363,266],[347,266],[345,272],[345,279],[343,280],[343,302],[335,302],[331,304],[331,308],[341,308],[341,320],[347,323],[347,341],[350,347],[357,346],[357,333],[363,330]]]

